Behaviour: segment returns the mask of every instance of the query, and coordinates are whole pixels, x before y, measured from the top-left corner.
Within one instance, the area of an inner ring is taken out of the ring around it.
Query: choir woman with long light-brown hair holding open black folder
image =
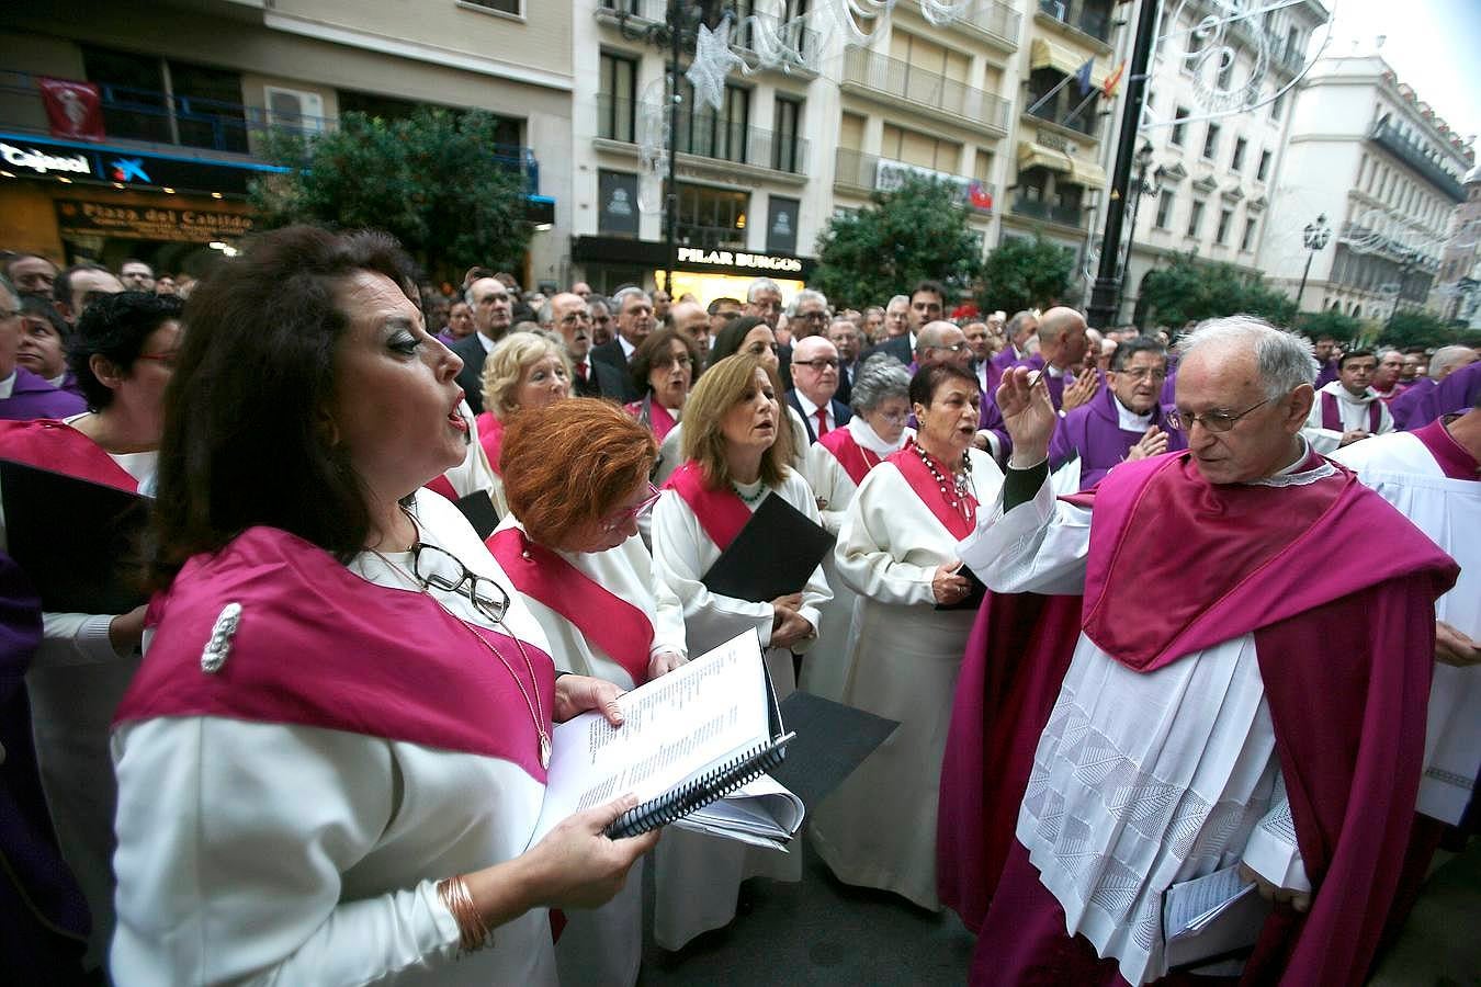
[[[703,576],[767,497],[818,521],[807,481],[791,469],[791,435],[780,429],[780,386],[755,357],[735,355],[709,366],[689,395],[686,463],[653,508],[653,570],[659,604],[684,613],[689,648],[702,654],[748,629],[760,633],[778,698],[795,688],[792,653],[816,641],[819,611],[832,598],[822,567],[806,586],[776,599],[738,599],[712,593]],[[661,897],[653,938],[677,950],[690,938],[735,917],[743,877],[801,877],[795,854],[746,849],[711,838],[674,832],[656,863],[659,888],[684,888]]]

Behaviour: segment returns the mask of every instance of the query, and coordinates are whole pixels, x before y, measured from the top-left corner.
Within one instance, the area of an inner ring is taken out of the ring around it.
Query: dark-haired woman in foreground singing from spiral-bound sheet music
[[[191,299],[144,664],[118,710],[123,984],[552,984],[546,907],[655,835],[530,846],[564,675],[446,499],[461,360],[381,234],[265,234]]]

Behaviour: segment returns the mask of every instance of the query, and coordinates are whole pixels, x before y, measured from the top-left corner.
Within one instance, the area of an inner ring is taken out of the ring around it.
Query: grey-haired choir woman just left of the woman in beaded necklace
[[[906,426],[909,386],[911,374],[899,360],[887,354],[869,357],[855,374],[849,395],[853,417],[807,448],[804,475],[818,496],[823,527],[834,537],[863,478],[915,435],[915,429]],[[834,599],[823,610],[819,644],[803,661],[798,685],[815,695],[838,700],[849,679],[849,624],[856,595],[838,577],[832,553],[823,559],[823,576]]]

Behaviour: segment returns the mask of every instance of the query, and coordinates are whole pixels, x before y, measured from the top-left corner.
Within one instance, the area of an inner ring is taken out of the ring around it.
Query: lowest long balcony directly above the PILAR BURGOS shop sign
[[[668,123],[662,114],[665,114],[663,107],[601,93],[597,96],[597,136],[634,144],[634,135],[641,130],[644,118]],[[807,169],[806,138],[748,127],[708,112],[680,111],[674,146],[680,154],[749,164],[788,175],[806,175]]]

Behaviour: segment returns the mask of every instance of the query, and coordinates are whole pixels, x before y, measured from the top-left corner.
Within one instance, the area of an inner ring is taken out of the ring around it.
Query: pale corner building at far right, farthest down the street
[[[1438,311],[1434,292],[1462,176],[1475,152],[1377,53],[1323,58],[1296,99],[1262,266],[1302,311],[1383,320]],[[1331,243],[1308,252],[1305,223],[1327,218]]]

